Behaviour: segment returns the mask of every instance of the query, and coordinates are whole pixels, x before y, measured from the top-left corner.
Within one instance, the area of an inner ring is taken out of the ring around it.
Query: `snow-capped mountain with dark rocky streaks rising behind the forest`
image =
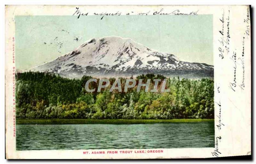
[[[211,65],[180,61],[173,54],[157,52],[131,39],[115,36],[90,39],[74,51],[30,70],[72,78],[147,73],[188,78],[213,77]]]

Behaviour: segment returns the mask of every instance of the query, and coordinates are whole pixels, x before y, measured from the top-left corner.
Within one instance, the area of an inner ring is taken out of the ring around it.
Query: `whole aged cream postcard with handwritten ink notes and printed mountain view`
[[[249,5],[6,5],[7,159],[251,155]]]

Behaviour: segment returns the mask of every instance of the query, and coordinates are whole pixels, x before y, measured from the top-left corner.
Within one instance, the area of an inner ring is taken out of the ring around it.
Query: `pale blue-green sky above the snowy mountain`
[[[130,38],[182,61],[213,65],[212,15],[15,16],[16,68],[32,68],[91,38]],[[56,38],[57,37],[57,38]]]

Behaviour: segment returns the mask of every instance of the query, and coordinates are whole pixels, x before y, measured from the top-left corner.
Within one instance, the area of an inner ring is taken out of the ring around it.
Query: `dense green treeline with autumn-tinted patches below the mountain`
[[[92,118],[92,119],[172,119],[214,118],[213,80],[167,79],[170,92],[136,92],[137,85],[128,92],[109,92],[110,85],[101,92],[86,92],[90,76],[68,79],[54,74],[25,72],[16,74],[17,118]],[[132,77],[131,77],[132,78]],[[122,90],[125,78],[120,78]],[[162,75],[140,75],[136,78],[165,79]],[[99,80],[98,80],[99,82]],[[162,83],[159,84],[161,88]],[[90,83],[97,88],[98,83]],[[96,89],[97,90],[97,89]]]

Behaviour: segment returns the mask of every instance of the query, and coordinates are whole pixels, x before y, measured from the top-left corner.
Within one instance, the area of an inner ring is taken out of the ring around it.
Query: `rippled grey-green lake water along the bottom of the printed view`
[[[214,122],[16,125],[17,150],[214,147]]]

